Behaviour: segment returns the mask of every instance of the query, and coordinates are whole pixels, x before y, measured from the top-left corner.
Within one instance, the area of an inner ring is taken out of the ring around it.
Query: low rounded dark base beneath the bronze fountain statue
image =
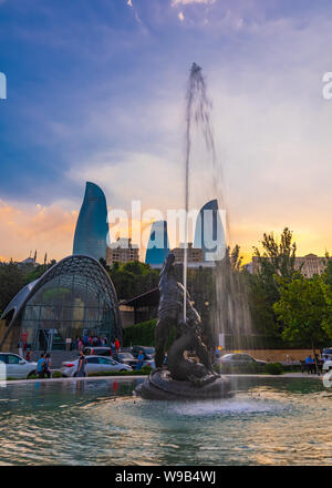
[[[191,382],[173,379],[167,369],[152,372],[144,383],[135,389],[136,395],[152,400],[208,400],[232,396],[228,378],[216,376],[216,379],[203,386]]]

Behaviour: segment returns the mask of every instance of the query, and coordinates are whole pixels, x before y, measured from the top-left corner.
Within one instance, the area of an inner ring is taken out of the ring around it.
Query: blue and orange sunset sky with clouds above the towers
[[[85,181],[111,209],[183,206],[193,61],[229,242],[248,261],[289,226],[298,255],[332,253],[331,48],[331,0],[0,0],[0,260],[71,254]],[[210,180],[201,151],[193,206],[218,196]]]

